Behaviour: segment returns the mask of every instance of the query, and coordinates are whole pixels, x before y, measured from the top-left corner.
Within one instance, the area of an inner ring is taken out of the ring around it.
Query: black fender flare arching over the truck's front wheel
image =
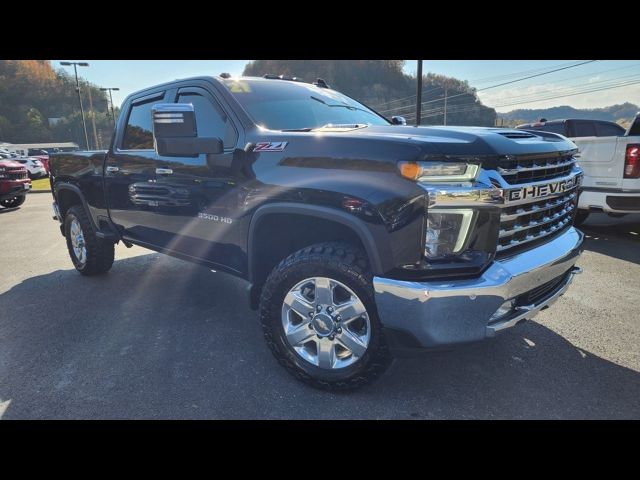
[[[254,250],[255,250],[255,230],[260,225],[261,221],[272,214],[295,214],[305,215],[310,217],[321,218],[323,220],[329,220],[351,229],[360,238],[362,245],[364,245],[367,256],[369,257],[369,263],[374,275],[381,275],[383,273],[382,260],[380,257],[379,246],[380,242],[376,242],[376,239],[367,227],[366,223],[359,218],[335,208],[322,207],[317,205],[308,205],[304,203],[270,203],[258,207],[251,218],[249,224],[249,235],[247,242],[247,260],[248,260],[248,272],[249,281],[254,280]]]

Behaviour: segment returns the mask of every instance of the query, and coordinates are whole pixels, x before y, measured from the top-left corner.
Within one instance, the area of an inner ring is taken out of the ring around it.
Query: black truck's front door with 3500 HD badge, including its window
[[[238,122],[223,103],[205,86],[184,86],[168,101],[194,106],[198,136],[223,140],[221,154],[172,157],[161,162],[158,188],[166,189],[169,200],[157,206],[167,232],[167,249],[205,260],[233,271],[245,269],[245,243],[238,228],[243,212],[239,208],[243,184],[248,179],[242,168],[244,151]]]

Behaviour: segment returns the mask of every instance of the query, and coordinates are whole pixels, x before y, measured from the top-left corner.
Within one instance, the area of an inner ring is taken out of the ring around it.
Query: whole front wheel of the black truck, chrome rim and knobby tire
[[[365,385],[390,365],[365,255],[341,243],[313,245],[269,275],[260,320],[272,353],[316,388]]]

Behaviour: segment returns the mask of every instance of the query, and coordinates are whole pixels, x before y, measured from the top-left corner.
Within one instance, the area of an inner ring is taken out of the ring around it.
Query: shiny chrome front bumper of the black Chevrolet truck
[[[583,239],[571,227],[543,245],[493,262],[479,278],[470,280],[411,282],[374,277],[380,320],[385,330],[410,348],[443,348],[492,337],[531,319],[566,291],[580,270],[575,263]],[[552,288],[533,304],[516,303],[513,312],[491,320],[504,302],[520,302],[548,284]]]

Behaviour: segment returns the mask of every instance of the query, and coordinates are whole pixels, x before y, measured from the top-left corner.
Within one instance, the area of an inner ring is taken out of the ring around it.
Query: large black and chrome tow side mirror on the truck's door
[[[222,153],[222,140],[198,137],[196,113],[190,103],[159,103],[151,109],[156,152],[162,157],[197,157]]]

